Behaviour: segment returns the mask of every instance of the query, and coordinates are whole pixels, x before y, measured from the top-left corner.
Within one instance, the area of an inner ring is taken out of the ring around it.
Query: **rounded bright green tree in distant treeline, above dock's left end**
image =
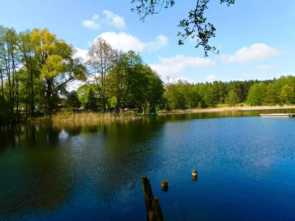
[[[248,93],[246,103],[250,106],[263,105],[266,97],[267,87],[265,83],[254,83]]]

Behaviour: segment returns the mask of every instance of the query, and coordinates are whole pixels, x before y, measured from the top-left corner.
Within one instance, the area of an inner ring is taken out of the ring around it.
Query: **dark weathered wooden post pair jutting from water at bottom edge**
[[[147,210],[147,221],[165,221],[159,198],[153,197],[148,177],[142,176],[141,179]]]

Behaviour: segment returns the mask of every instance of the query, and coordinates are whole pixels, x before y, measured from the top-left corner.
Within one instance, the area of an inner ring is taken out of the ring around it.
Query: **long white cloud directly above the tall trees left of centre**
[[[150,52],[158,50],[168,44],[168,39],[164,35],[159,35],[156,37],[155,41],[150,42],[142,42],[139,38],[125,32],[116,33],[108,31],[98,35],[97,38],[98,37],[105,39],[113,48],[123,50],[124,52],[129,50]]]

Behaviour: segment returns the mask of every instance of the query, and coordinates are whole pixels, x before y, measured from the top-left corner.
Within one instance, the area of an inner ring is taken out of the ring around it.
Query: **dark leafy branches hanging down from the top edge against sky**
[[[180,0],[178,0],[180,3]],[[205,56],[208,56],[209,51],[218,53],[215,47],[208,44],[209,39],[215,37],[215,27],[207,22],[204,16],[208,9],[209,0],[197,0],[196,7],[189,11],[188,18],[180,20],[178,27],[183,29],[183,32],[178,32],[180,36],[179,45],[184,44],[184,40],[188,37],[196,39],[197,45],[195,48],[202,46]],[[140,16],[141,21],[145,21],[148,15],[158,14],[162,7],[169,8],[176,4],[176,0],[131,0],[131,3],[137,4],[131,10]],[[235,3],[235,0],[220,0],[220,3],[226,3],[228,6]]]

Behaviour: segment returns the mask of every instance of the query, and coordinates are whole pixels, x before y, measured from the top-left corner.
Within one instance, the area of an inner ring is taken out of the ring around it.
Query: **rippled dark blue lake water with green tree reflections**
[[[267,112],[1,127],[0,220],[145,221],[142,175],[166,221],[294,220],[295,121]]]

